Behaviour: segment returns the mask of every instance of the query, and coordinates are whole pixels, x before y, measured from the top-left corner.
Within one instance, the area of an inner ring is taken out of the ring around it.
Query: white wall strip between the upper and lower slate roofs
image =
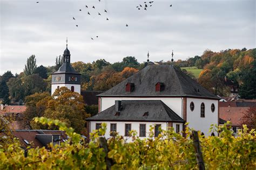
[[[134,97],[102,97],[101,98],[101,108],[100,111],[104,111],[107,108],[114,105],[115,100],[161,100],[164,104],[171,108],[175,113],[177,113],[182,118],[182,100],[181,98],[134,98]]]

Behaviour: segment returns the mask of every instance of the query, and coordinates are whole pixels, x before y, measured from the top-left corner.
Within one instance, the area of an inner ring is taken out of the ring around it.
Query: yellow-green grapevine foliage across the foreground
[[[106,169],[106,157],[111,160],[111,169],[197,169],[196,153],[191,130],[186,128],[186,137],[170,128],[161,130],[154,138],[153,127],[150,137],[139,139],[137,132],[131,131],[132,142],[119,135],[107,140],[109,152],[100,147],[100,137],[104,137],[106,124],[90,134],[91,141],[84,139],[72,128],[59,120],[36,118],[36,122],[56,125],[66,131],[69,140],[60,145],[46,148],[24,149],[18,142],[8,147],[0,146],[0,169]],[[256,166],[255,131],[244,129],[239,137],[233,137],[227,126],[212,126],[210,131],[218,131],[219,137],[203,137],[199,134],[206,169],[253,169]]]

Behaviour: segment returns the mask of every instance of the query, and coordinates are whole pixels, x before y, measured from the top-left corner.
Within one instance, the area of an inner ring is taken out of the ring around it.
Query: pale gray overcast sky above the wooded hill
[[[114,63],[126,56],[145,62],[147,51],[151,61],[167,61],[172,50],[177,60],[201,55],[206,49],[256,46],[254,0],[155,0],[152,6],[147,3],[146,11],[136,8],[144,6],[145,1],[139,0],[0,2],[0,75],[7,70],[22,72],[31,55],[36,55],[38,66],[54,65],[65,50],[66,37],[72,63],[100,58]]]

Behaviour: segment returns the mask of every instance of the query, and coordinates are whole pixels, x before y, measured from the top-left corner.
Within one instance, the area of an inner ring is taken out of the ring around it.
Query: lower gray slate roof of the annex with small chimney
[[[116,115],[115,105],[113,105],[86,120],[184,122],[178,114],[173,112],[161,100],[122,100],[122,107],[119,115]],[[148,116],[143,116],[145,112],[149,112]]]

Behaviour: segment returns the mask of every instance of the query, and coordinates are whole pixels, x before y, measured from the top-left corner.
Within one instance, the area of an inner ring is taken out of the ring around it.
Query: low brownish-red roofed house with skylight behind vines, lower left
[[[53,145],[60,144],[68,139],[65,131],[51,130],[16,130],[12,134],[19,139],[24,148],[31,147],[48,147],[52,142]]]

